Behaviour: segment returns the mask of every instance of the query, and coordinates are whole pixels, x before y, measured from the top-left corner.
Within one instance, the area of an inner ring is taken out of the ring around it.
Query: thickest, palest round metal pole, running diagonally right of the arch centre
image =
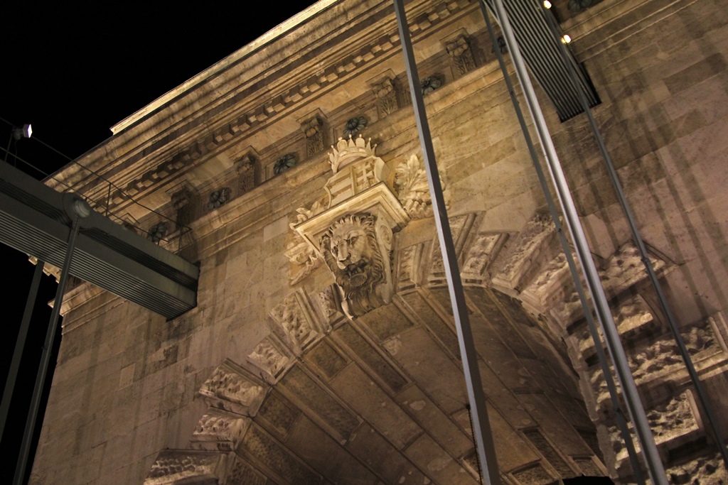
[[[591,257],[584,228],[582,228],[581,222],[579,221],[579,215],[577,214],[577,209],[574,206],[574,200],[571,198],[569,185],[566,183],[566,177],[563,175],[561,162],[558,160],[553,140],[551,139],[550,132],[546,125],[546,120],[536,97],[536,92],[531,84],[531,79],[529,79],[529,74],[526,71],[526,64],[523,62],[521,50],[518,47],[518,43],[515,41],[513,28],[511,28],[510,21],[508,20],[503,1],[494,0],[494,3],[503,34],[505,36],[506,45],[510,51],[511,60],[513,60],[513,65],[515,65],[515,71],[518,75],[518,79],[521,81],[521,89],[523,89],[523,95],[526,97],[526,103],[529,105],[529,111],[534,119],[534,126],[537,129],[539,140],[541,142],[545,158],[548,162],[551,179],[556,188],[559,201],[561,202],[564,216],[566,217],[566,227],[571,233],[571,240],[574,241],[579,262],[581,262],[582,268],[584,268],[587,288],[592,294],[594,307],[600,321],[604,324],[606,345],[609,349],[610,355],[612,356],[614,369],[617,372],[617,378],[619,379],[622,387],[622,394],[625,398],[625,402],[627,403],[627,408],[632,422],[634,423],[637,437],[642,448],[642,453],[644,454],[649,478],[652,479],[653,484],[667,485],[668,482],[667,476],[665,476],[665,468],[660,461],[660,454],[657,452],[657,445],[654,443],[652,430],[649,428],[649,422],[647,422],[647,417],[639,398],[637,386],[630,372],[630,368],[627,363],[627,356],[625,356],[625,350],[622,348],[619,332],[617,332],[617,326],[614,324],[614,318],[612,318],[612,313],[609,310],[609,304],[606,300],[604,288],[601,286],[596,265],[594,265],[594,260]]]

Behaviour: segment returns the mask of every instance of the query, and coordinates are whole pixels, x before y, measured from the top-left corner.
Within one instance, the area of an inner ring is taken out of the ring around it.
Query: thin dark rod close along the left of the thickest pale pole
[[[589,302],[587,301],[586,294],[584,292],[584,287],[582,286],[582,281],[579,278],[579,270],[577,268],[576,262],[574,262],[574,257],[571,255],[571,248],[569,247],[569,241],[566,241],[566,235],[563,233],[563,226],[561,225],[561,220],[558,215],[558,211],[556,210],[556,204],[554,204],[553,197],[551,196],[551,192],[548,188],[548,184],[546,182],[546,177],[544,175],[543,169],[541,168],[541,164],[539,164],[539,158],[536,154],[536,147],[534,147],[533,140],[531,140],[531,135],[529,134],[529,128],[526,126],[526,119],[523,118],[523,111],[521,111],[521,105],[518,103],[518,98],[515,97],[515,89],[513,89],[513,83],[510,80],[510,74],[508,73],[508,70],[505,65],[505,60],[503,59],[503,55],[500,52],[500,49],[498,48],[498,41],[496,39],[495,33],[493,31],[493,25],[491,24],[490,16],[488,15],[488,9],[486,8],[486,2],[485,0],[480,0],[480,9],[483,12],[483,17],[485,17],[486,20],[486,27],[488,28],[488,34],[491,37],[491,43],[494,47],[494,52],[496,54],[496,57],[498,57],[498,63],[500,65],[501,71],[503,72],[503,79],[505,79],[506,87],[508,88],[508,93],[510,94],[510,100],[513,103],[513,109],[515,111],[516,116],[518,117],[518,123],[521,124],[521,131],[523,132],[523,137],[526,139],[526,146],[529,148],[529,153],[531,154],[531,161],[534,164],[534,169],[536,169],[536,174],[539,178],[539,184],[541,185],[541,189],[544,193],[544,196],[546,198],[546,204],[548,206],[549,212],[551,213],[551,217],[553,218],[553,223],[556,227],[556,233],[558,234],[558,239],[561,241],[561,249],[563,249],[563,254],[566,257],[566,262],[569,265],[569,271],[571,272],[571,278],[574,280],[574,286],[577,289],[577,294],[579,294],[579,302],[582,304],[582,308],[584,308],[584,316],[587,320],[587,326],[589,328],[589,333],[591,334],[592,340],[594,341],[594,346],[596,348],[597,357],[599,360],[599,366],[601,367],[601,372],[604,374],[604,381],[606,382],[606,388],[609,390],[609,398],[612,400],[612,406],[614,406],[614,417],[617,420],[617,426],[620,428],[620,432],[622,433],[622,438],[625,442],[625,447],[627,448],[628,456],[630,457],[630,463],[632,465],[632,469],[635,473],[635,479],[638,484],[644,485],[644,476],[642,476],[642,470],[639,465],[639,460],[637,457],[637,450],[634,447],[634,444],[632,442],[632,435],[630,433],[630,430],[628,428],[627,422],[625,421],[624,414],[622,412],[622,406],[620,405],[620,400],[618,398],[617,394],[617,388],[614,385],[614,379],[612,378],[612,372],[609,370],[609,362],[606,360],[606,355],[604,354],[604,348],[603,344],[601,342],[601,337],[599,337],[599,332],[597,331],[596,324],[594,324],[594,319],[592,318],[592,310],[589,305]],[[599,316],[597,315],[597,318]],[[604,326],[604,324],[601,323],[601,326]]]

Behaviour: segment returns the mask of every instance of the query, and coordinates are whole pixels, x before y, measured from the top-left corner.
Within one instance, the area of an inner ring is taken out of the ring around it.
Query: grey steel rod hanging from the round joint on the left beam
[[[15,467],[15,478],[13,485],[23,484],[25,476],[25,466],[28,464],[28,453],[31,449],[31,441],[33,439],[33,430],[36,427],[36,418],[38,417],[38,409],[40,407],[41,393],[45,384],[46,374],[48,372],[48,363],[50,362],[50,353],[53,348],[53,340],[55,338],[56,326],[58,326],[58,317],[60,316],[60,305],[63,303],[63,294],[68,281],[68,268],[71,268],[71,257],[74,255],[76,247],[76,236],[79,234],[80,217],[74,215],[71,233],[68,236],[68,245],[66,246],[66,259],[63,260],[63,268],[60,270],[60,281],[58,281],[58,289],[55,290],[55,300],[53,300],[53,310],[50,314],[48,322],[48,331],[46,340],[43,345],[43,353],[41,362],[38,367],[38,375],[36,376],[36,385],[33,388],[33,397],[31,398],[31,407],[28,409],[28,420],[25,421],[25,432],[23,433],[23,441],[20,443],[20,454],[17,457],[17,465]]]

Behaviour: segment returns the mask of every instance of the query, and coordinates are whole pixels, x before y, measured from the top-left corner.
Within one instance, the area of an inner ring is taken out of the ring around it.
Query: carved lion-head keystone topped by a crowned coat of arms
[[[339,139],[332,148],[328,204],[294,228],[326,262],[339,291],[335,300],[355,318],[392,300],[393,232],[410,217],[387,185],[389,167],[371,140]]]

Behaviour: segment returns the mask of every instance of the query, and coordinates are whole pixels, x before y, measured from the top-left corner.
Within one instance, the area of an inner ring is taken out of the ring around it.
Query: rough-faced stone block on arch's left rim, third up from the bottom
[[[226,360],[205,381],[199,393],[214,408],[241,416],[255,416],[266,389],[247,371]]]

